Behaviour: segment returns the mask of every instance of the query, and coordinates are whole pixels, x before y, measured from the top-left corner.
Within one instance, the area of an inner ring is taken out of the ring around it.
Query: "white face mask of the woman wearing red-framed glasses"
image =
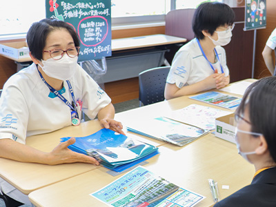
[[[39,66],[49,77],[66,81],[75,75],[77,59],[78,57],[69,57],[67,54],[64,54],[59,60],[52,58],[46,61],[42,60],[43,66],[40,64]]]

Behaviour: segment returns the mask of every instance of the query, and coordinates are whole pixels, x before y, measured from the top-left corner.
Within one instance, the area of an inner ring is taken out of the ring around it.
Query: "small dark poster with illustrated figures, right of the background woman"
[[[266,0],[246,0],[244,30],[266,28]]]

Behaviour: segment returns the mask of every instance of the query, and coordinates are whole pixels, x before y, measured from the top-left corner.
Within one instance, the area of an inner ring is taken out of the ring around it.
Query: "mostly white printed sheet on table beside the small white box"
[[[214,130],[215,119],[230,115],[231,113],[232,112],[220,110],[218,108],[191,104],[185,108],[174,110],[165,115],[165,117],[192,126],[197,126],[204,130]]]

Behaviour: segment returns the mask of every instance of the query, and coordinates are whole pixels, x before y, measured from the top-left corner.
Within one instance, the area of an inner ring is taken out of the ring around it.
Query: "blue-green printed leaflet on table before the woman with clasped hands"
[[[205,92],[203,94],[195,95],[189,98],[195,99],[197,101],[203,101],[204,103],[210,103],[215,106],[221,106],[231,110],[237,108],[239,106],[239,103],[241,103],[242,101],[242,99],[239,97],[233,97],[215,91]]]

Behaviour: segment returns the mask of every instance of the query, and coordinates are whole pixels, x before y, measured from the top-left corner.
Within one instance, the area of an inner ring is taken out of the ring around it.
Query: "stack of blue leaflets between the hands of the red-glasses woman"
[[[158,154],[158,148],[113,130],[103,128],[87,137],[75,137],[76,142],[68,146],[70,150],[89,155],[100,164],[121,172]],[[61,142],[70,137],[61,138]]]

